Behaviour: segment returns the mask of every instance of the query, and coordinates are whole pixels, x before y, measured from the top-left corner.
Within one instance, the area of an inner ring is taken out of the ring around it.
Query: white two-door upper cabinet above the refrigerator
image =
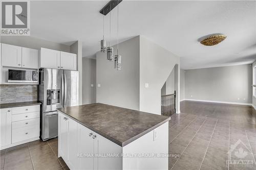
[[[41,48],[39,67],[76,70],[76,54]]]

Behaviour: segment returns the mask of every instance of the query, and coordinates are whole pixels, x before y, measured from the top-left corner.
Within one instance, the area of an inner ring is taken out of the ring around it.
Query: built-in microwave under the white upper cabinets
[[[8,69],[8,83],[38,83],[38,71]]]

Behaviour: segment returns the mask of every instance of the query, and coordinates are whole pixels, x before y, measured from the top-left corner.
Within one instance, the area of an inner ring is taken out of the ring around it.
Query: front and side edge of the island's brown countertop
[[[159,126],[163,125],[164,123],[166,123],[166,122],[168,122],[168,121],[170,120],[170,117],[168,117],[168,118],[166,118],[165,120],[163,120],[162,122],[160,122],[159,124],[157,124],[157,125],[155,125],[155,126],[149,128],[149,129],[147,129],[147,130],[141,132],[140,134],[138,134],[138,135],[136,135],[136,136],[134,136],[134,137],[132,137],[132,138],[130,138],[130,139],[124,141],[124,142],[120,142],[120,141],[118,141],[118,140],[116,140],[116,139],[114,139],[114,138],[112,138],[112,137],[110,137],[110,136],[108,136],[108,135],[106,135],[106,134],[104,134],[104,133],[101,133],[100,131],[98,131],[98,130],[92,128],[91,126],[80,122],[80,121],[77,120],[76,118],[74,118],[74,117],[72,117],[72,116],[70,116],[70,115],[68,115],[68,114],[66,114],[66,113],[64,113],[64,112],[62,112],[62,111],[60,111],[60,110],[58,110],[58,109],[56,109],[56,110],[59,111],[59,112],[61,112],[61,113],[63,113],[63,114],[65,114],[65,115],[67,115],[67,116],[70,117],[71,119],[75,120],[75,122],[77,122],[77,123],[83,125],[84,127],[87,127],[87,128],[89,128],[89,129],[91,129],[92,131],[98,133],[99,135],[101,135],[101,136],[103,136],[103,137],[105,137],[105,138],[111,140],[112,142],[118,144],[120,147],[125,147],[125,145],[127,145],[127,144],[133,142],[134,140],[140,138],[141,136],[143,136],[143,135],[147,134],[148,132],[150,132],[150,131],[152,131],[152,130],[158,128]]]

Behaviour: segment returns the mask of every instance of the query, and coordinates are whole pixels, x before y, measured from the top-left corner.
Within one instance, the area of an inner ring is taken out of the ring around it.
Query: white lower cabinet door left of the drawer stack
[[[0,109],[1,149],[11,144],[12,108]]]

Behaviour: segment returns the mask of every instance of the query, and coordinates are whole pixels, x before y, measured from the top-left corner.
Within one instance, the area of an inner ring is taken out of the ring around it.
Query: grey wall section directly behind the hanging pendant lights
[[[96,54],[96,101],[99,103],[139,110],[139,36],[119,44],[122,69],[114,69],[114,61],[106,60],[106,53]],[[114,45],[114,54],[117,46]]]

